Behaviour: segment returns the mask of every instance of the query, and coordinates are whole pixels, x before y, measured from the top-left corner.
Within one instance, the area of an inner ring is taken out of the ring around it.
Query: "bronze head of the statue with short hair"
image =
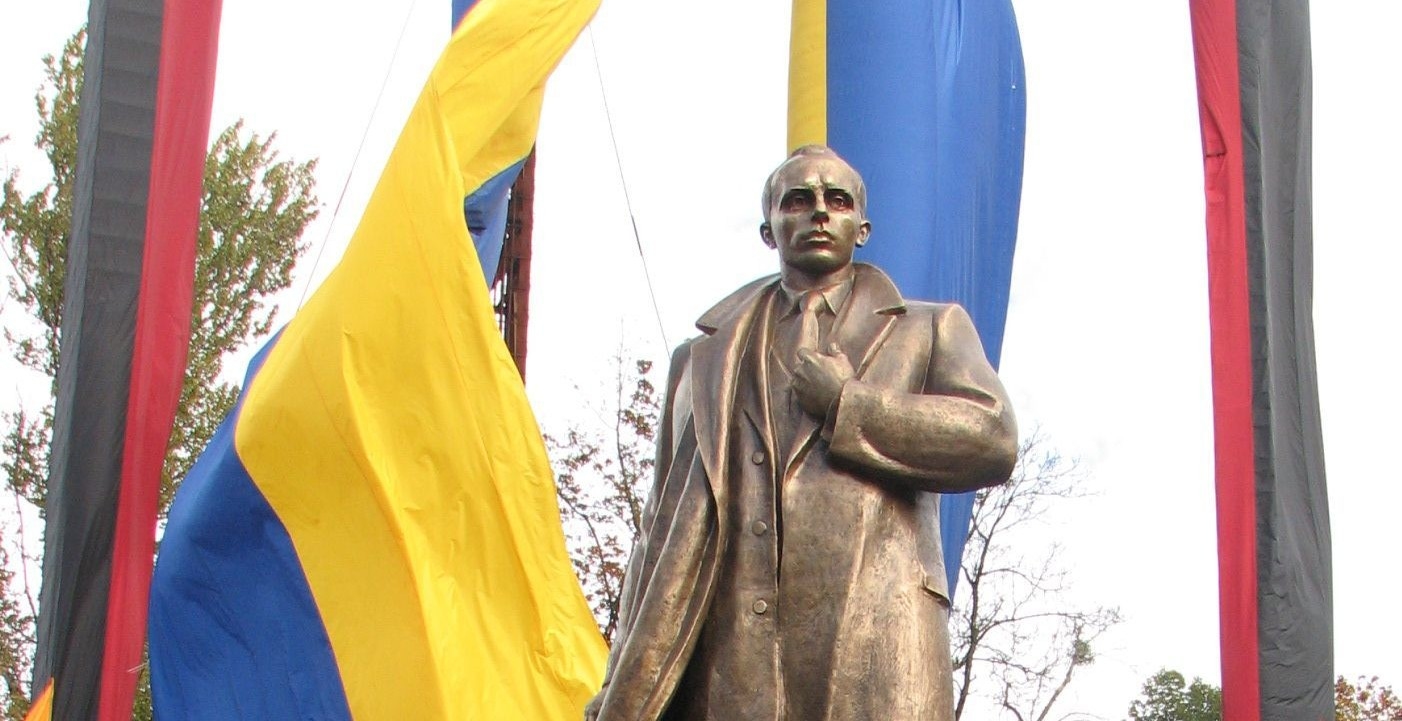
[[[844,271],[872,231],[862,177],[827,146],[799,147],[774,168],[761,203],[760,237],[780,251],[787,278],[817,281]]]

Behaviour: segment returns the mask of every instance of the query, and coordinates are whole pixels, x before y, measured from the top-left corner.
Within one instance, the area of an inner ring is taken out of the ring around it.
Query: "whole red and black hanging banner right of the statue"
[[[1192,0],[1207,178],[1223,715],[1333,718],[1308,0]]]

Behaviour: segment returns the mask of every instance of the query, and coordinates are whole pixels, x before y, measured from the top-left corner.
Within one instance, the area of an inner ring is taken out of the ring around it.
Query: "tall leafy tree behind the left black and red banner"
[[[4,414],[3,470],[10,491],[38,508],[48,495],[49,438],[59,365],[59,328],[73,174],[77,160],[79,97],[83,90],[86,31],[63,50],[43,58],[45,83],[35,94],[39,133],[35,144],[49,160],[49,181],[25,195],[18,171],[4,178],[0,196],[0,244],[14,268],[10,299],[27,311],[25,323],[7,318],[6,339],[14,358],[49,382],[49,401],[39,410]],[[292,283],[292,269],[306,250],[301,233],[317,216],[315,161],[282,160],[276,135],[245,132],[243,121],[215,139],[205,163],[196,241],[195,311],[179,407],[161,471],[160,511],[238,397],[238,386],[220,380],[224,358],[272,327],[271,296]],[[21,505],[20,518],[24,511]],[[7,527],[7,551],[36,561],[22,529]],[[13,570],[0,574],[0,675],[7,718],[28,707],[28,672],[34,648],[34,591],[15,588]]]

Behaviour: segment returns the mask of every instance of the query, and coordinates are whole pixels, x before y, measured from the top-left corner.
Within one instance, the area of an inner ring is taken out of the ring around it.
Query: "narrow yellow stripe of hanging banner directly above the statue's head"
[[[788,149],[827,144],[827,0],[794,0]]]

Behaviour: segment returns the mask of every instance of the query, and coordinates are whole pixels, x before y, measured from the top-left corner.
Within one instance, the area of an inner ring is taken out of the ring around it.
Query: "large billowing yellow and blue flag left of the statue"
[[[597,0],[481,0],[331,278],[185,480],[151,591],[160,718],[576,720],[604,644],[464,198],[534,143]]]

